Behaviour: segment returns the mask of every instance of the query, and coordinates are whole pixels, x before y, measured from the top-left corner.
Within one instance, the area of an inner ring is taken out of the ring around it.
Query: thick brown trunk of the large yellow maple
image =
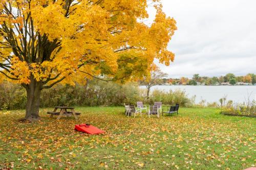
[[[42,83],[37,82],[33,76],[30,78],[30,84],[26,85],[27,90],[27,104],[25,119],[30,122],[36,122],[40,119],[39,106],[40,106],[40,93],[42,90]]]

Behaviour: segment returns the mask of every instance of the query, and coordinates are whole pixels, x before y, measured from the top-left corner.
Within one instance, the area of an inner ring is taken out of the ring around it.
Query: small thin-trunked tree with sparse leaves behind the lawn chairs
[[[155,71],[151,72],[150,77],[144,77],[142,81],[140,81],[140,85],[144,85],[147,88],[146,98],[150,98],[150,88],[159,84],[163,83],[163,78],[167,77],[168,75],[162,72],[160,69],[156,69]]]

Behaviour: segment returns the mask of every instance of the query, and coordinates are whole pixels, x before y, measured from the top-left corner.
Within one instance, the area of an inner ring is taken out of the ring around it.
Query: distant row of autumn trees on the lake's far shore
[[[162,84],[173,84],[173,85],[218,85],[221,83],[229,83],[236,85],[237,83],[256,84],[256,75],[247,74],[245,76],[235,76],[232,73],[228,73],[225,76],[220,77],[201,77],[199,74],[193,75],[192,79],[181,77],[180,79],[162,79]]]

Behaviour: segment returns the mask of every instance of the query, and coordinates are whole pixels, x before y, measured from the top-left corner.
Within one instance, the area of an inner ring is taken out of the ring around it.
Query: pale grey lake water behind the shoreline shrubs
[[[248,94],[250,100],[256,100],[256,86],[153,86],[151,91],[154,89],[158,90],[185,90],[188,97],[191,98],[196,95],[196,103],[202,100],[206,102],[218,102],[219,99],[227,95],[227,100],[232,100],[236,103],[242,103],[247,100]]]

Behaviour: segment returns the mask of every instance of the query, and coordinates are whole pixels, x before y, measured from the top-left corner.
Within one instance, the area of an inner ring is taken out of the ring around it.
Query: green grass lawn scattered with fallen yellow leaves
[[[256,119],[218,109],[180,108],[157,118],[124,115],[123,107],[77,107],[79,120],[18,123],[24,110],[0,112],[0,169],[244,169],[255,165]],[[88,135],[75,124],[106,131]]]

